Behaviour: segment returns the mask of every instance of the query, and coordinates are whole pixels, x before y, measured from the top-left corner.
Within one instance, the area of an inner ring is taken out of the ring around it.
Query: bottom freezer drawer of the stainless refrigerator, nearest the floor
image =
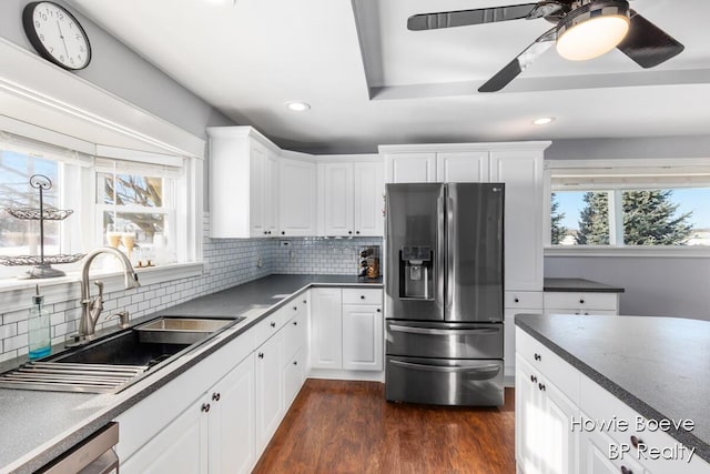
[[[387,356],[385,397],[434,405],[501,406],[503,361]]]

